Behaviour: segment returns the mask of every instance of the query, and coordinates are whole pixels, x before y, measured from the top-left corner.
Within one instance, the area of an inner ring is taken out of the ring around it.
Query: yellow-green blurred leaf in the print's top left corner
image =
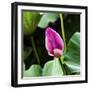
[[[24,34],[30,35],[35,32],[40,20],[40,14],[37,12],[23,11],[23,29]]]

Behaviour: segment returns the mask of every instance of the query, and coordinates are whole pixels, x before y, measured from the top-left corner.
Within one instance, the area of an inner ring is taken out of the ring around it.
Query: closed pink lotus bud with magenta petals
[[[50,27],[45,31],[45,44],[50,56],[60,57],[63,54],[64,42],[61,36]]]

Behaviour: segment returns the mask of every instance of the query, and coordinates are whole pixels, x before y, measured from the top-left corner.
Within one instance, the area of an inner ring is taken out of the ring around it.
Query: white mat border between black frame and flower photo
[[[61,76],[61,77],[35,77],[23,78],[21,76],[21,14],[22,10],[39,10],[39,11],[57,11],[57,12],[74,12],[81,13],[80,15],[80,75]],[[85,10],[71,8],[56,8],[56,7],[36,7],[36,6],[18,6],[18,84],[32,83],[48,83],[48,82],[65,82],[65,81],[80,81],[85,80]]]

